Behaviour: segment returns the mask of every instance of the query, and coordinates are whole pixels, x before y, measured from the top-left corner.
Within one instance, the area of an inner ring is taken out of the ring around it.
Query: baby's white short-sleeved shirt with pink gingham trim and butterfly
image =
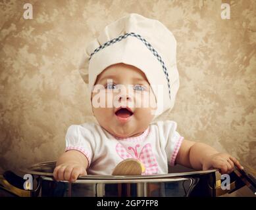
[[[184,137],[174,121],[157,121],[138,137],[118,138],[96,123],[71,125],[66,133],[66,151],[78,150],[88,159],[88,175],[111,175],[118,163],[136,158],[145,166],[143,175],[168,173]]]

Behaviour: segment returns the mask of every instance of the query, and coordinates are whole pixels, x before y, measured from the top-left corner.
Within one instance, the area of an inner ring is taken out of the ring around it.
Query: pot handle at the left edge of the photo
[[[22,188],[25,180],[12,171],[5,171],[3,175],[0,175],[0,188],[19,197],[37,197],[41,190],[41,177],[36,180],[38,182],[36,190],[24,190]]]

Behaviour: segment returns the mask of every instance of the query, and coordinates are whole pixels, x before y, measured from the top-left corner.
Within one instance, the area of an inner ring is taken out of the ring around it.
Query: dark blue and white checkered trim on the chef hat
[[[89,60],[91,60],[91,57],[93,56],[93,54],[101,51],[102,49],[104,49],[105,47],[108,47],[109,45],[113,45],[114,43],[116,43],[118,41],[121,41],[122,39],[126,39],[126,37],[128,37],[128,36],[133,36],[133,37],[136,37],[136,38],[140,39],[145,44],[145,46],[149,49],[149,51],[151,51],[153,53],[153,55],[157,58],[157,60],[160,62],[160,64],[162,65],[163,72],[165,74],[167,83],[168,83],[169,97],[170,97],[170,80],[169,80],[168,72],[167,72],[167,69],[166,69],[166,66],[165,66],[165,62],[163,62],[163,59],[157,53],[157,51],[152,47],[152,45],[150,43],[148,43],[143,37],[141,37],[140,34],[133,33],[133,32],[125,33],[124,35],[120,35],[115,39],[111,39],[110,41],[107,41],[103,45],[97,47],[97,49],[95,49],[95,51],[93,51],[93,53],[91,53]]]

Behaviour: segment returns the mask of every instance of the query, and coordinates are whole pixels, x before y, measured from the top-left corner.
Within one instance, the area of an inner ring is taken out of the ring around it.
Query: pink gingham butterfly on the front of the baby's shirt
[[[143,163],[145,166],[145,172],[143,175],[151,175],[158,173],[157,160],[152,152],[151,144],[145,144],[140,151],[140,156],[138,156],[137,148],[140,148],[140,144],[136,144],[135,147],[129,146],[128,152],[126,148],[120,143],[116,144],[116,152],[122,159],[135,158]]]

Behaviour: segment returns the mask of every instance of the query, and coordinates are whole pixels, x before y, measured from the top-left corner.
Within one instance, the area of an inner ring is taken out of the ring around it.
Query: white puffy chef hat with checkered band
[[[134,13],[106,26],[88,44],[79,66],[80,75],[89,86],[90,98],[97,75],[118,63],[139,68],[151,87],[163,87],[153,89],[157,98],[154,119],[172,109],[179,88],[179,75],[176,40],[166,26]]]

